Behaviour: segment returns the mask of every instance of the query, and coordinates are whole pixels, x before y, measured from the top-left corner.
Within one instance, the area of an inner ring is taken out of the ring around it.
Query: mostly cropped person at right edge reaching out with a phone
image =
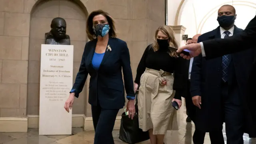
[[[185,59],[190,59],[191,57],[198,56],[202,53],[202,56],[206,59],[213,59],[225,54],[232,54],[235,52],[240,52],[248,50],[250,48],[256,48],[255,40],[256,38],[256,16],[248,23],[246,29],[240,32],[236,36],[231,36],[226,39],[213,39],[200,42],[200,44],[189,44],[180,47],[177,52],[182,52],[182,50],[190,50],[190,56],[185,56],[180,54]],[[255,50],[254,50],[255,53]],[[254,54],[256,56],[256,53]],[[241,62],[242,63],[242,62]],[[244,109],[246,112],[246,131],[250,137],[256,137],[256,106],[255,106],[255,92],[256,88],[256,60],[254,58],[253,68],[250,72],[248,82],[246,83],[247,94],[244,100]]]

